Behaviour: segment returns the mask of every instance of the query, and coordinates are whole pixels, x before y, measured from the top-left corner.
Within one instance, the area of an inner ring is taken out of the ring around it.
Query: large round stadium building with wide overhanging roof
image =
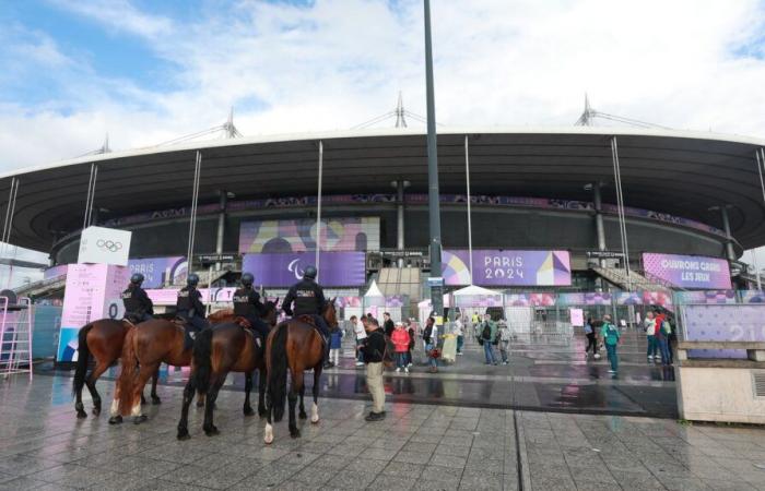
[[[644,272],[642,254],[650,252],[725,259],[737,285],[745,287],[735,261],[743,250],[765,243],[755,158],[762,144],[711,133],[593,127],[442,131],[443,247],[469,247],[467,157],[472,248],[568,251],[570,282],[546,286],[591,291],[605,275],[623,287],[608,271],[623,267],[627,253],[631,271]],[[320,249],[366,254],[358,266],[363,275],[329,286],[357,291],[372,274],[391,266],[427,271],[425,134],[411,129],[195,142],[24,169],[4,176],[0,189],[8,208],[17,181],[10,242],[49,251],[51,265],[75,263],[90,200],[91,225],[132,231],[130,258],[184,258],[197,153],[193,253],[226,254],[223,268],[232,273],[224,280],[235,279],[244,253],[316,249],[319,157],[326,224]],[[207,271],[197,262],[192,267]],[[266,287],[285,286],[261,280]],[[422,283],[420,275],[405,282]],[[404,288],[398,283],[384,289]],[[420,299],[422,288],[410,287],[405,294]]]

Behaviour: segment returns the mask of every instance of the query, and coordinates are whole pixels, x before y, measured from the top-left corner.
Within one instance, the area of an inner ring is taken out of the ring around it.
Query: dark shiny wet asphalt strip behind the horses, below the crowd
[[[608,373],[604,351],[600,360],[586,361],[584,349],[580,334],[527,337],[513,343],[509,366],[494,367],[483,363],[483,348],[469,339],[464,356],[437,374],[427,373],[419,350],[412,373],[386,372],[386,393],[402,403],[676,418],[674,371],[646,361],[643,333],[624,334],[616,376]],[[325,371],[323,396],[367,397],[364,370],[354,366],[352,354],[349,344],[341,366]],[[170,385],[181,385],[186,378],[187,369],[162,373],[162,382]],[[311,386],[313,378],[305,380]],[[243,386],[244,378],[232,374],[225,388]]]

